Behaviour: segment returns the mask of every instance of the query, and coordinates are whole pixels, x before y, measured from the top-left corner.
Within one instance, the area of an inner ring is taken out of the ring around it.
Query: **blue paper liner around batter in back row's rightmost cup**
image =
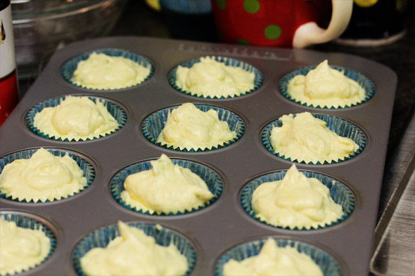
[[[364,99],[359,102],[359,103],[355,103],[352,105],[345,105],[344,107],[327,107],[326,105],[324,106],[320,106],[320,105],[313,105],[311,103],[302,103],[300,100],[295,100],[293,98],[291,98],[291,96],[288,95],[288,83],[290,82],[291,79],[293,79],[293,77],[297,76],[297,75],[306,75],[309,71],[314,70],[317,66],[309,66],[309,67],[302,67],[298,70],[294,70],[293,72],[290,72],[286,75],[284,75],[280,80],[279,80],[279,91],[280,93],[286,97],[288,100],[293,101],[294,103],[298,103],[300,105],[305,105],[308,107],[315,107],[315,108],[322,108],[322,109],[341,109],[341,108],[347,108],[347,107],[352,107],[352,106],[356,106],[356,105],[361,105],[362,103],[366,103],[368,100],[370,100],[373,97],[373,94],[375,93],[375,85],[373,84],[373,81],[371,81],[369,78],[365,77],[363,74],[356,72],[354,70],[350,70],[348,68],[345,67],[339,67],[339,66],[330,66],[332,69],[338,70],[340,72],[344,72],[345,73],[345,77],[348,77],[349,79],[352,79],[354,81],[357,81],[357,83],[359,84],[359,86],[362,86],[364,88],[365,93],[365,97]]]

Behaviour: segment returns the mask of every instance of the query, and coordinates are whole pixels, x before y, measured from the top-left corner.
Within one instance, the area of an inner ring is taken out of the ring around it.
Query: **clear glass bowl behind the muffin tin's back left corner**
[[[109,34],[125,4],[127,0],[12,0],[19,79],[37,77],[65,44]]]

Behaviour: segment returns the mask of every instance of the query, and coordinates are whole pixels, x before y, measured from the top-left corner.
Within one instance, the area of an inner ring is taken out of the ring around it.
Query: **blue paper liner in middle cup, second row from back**
[[[181,152],[205,152],[209,150],[217,150],[222,147],[227,147],[228,145],[235,143],[237,140],[239,140],[243,136],[243,133],[245,132],[245,123],[243,122],[241,117],[239,117],[234,112],[226,110],[222,107],[215,107],[212,105],[196,104],[195,106],[198,107],[198,109],[202,110],[203,112],[207,112],[208,110],[211,110],[211,109],[216,110],[219,115],[219,120],[226,121],[229,124],[229,130],[236,132],[236,138],[234,138],[234,140],[231,140],[227,143],[224,143],[223,145],[217,145],[216,147],[212,147],[210,149],[205,148],[204,150],[200,148],[198,148],[197,150],[193,148],[190,150],[186,148],[180,150],[179,147],[173,147],[173,146],[162,145],[161,143],[157,143],[156,142],[157,138],[159,134],[162,132],[162,129],[165,127],[169,112],[179,107],[179,105],[176,105],[173,107],[167,107],[163,110],[158,110],[154,112],[153,114],[151,114],[150,116],[148,116],[143,121],[143,124],[141,125],[141,131],[143,131],[144,137],[146,137],[146,139],[149,140],[151,143],[158,145],[160,147],[167,148],[168,150],[179,150]]]

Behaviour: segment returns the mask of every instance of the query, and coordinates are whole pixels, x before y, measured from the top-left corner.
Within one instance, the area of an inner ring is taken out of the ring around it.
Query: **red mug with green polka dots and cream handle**
[[[352,0],[211,1],[224,42],[294,48],[338,38],[350,21],[353,6]]]

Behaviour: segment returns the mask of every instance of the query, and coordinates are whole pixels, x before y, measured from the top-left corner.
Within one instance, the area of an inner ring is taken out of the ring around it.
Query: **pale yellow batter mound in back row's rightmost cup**
[[[315,107],[345,107],[361,103],[366,95],[357,81],[332,69],[324,60],[306,76],[297,75],[288,82],[287,93],[294,100]]]

